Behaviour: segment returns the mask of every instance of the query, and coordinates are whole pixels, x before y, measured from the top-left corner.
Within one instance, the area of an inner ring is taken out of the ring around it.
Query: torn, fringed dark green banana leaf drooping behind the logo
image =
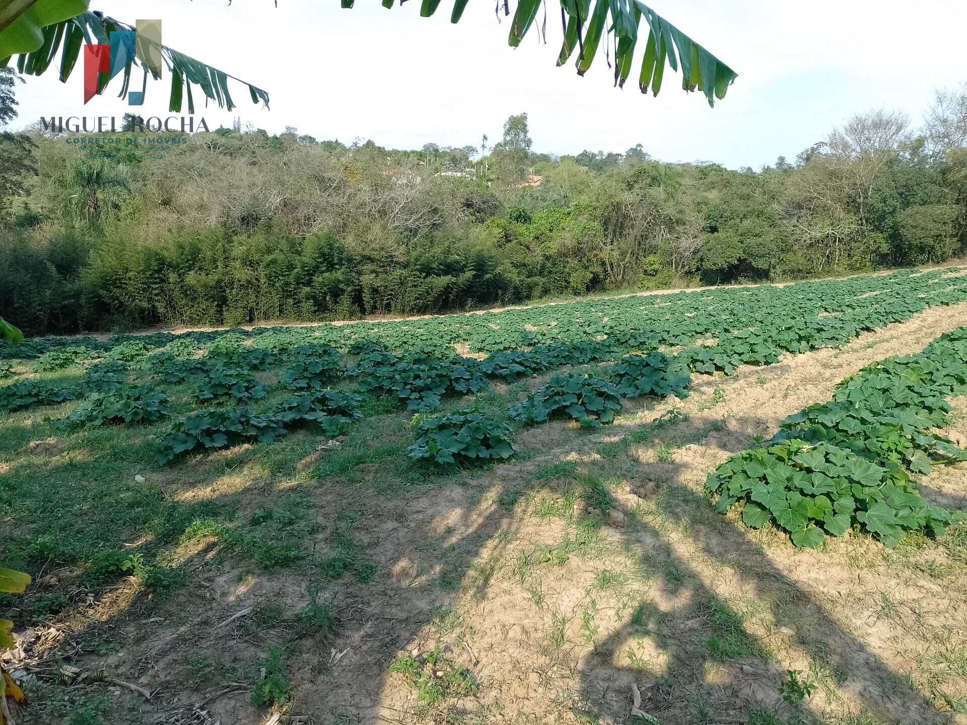
[[[74,5],[76,5],[76,0],[57,1],[64,3],[74,2]],[[82,3],[82,5],[86,7],[86,3]],[[10,58],[4,55],[3,49],[5,47],[26,47],[22,43],[16,46],[14,43],[5,44],[8,33],[12,30],[15,30],[14,25],[0,32],[0,67],[6,66],[10,61]],[[60,79],[61,81],[67,81],[73,71],[73,67],[77,63],[77,58],[80,55],[84,43],[108,43],[111,33],[123,30],[134,30],[134,26],[115,20],[113,17],[107,15],[87,12],[75,14],[73,17],[59,20],[41,28],[39,31],[41,34],[40,43],[33,44],[29,50],[21,52],[17,59],[17,68],[21,73],[41,75],[47,70],[54,56],[60,50]],[[182,110],[183,100],[187,97],[189,113],[194,113],[194,101],[191,96],[192,85],[200,87],[205,97],[210,101],[218,103],[220,108],[231,110],[235,107],[235,103],[232,101],[232,97],[228,92],[229,78],[244,83],[249,87],[249,96],[252,102],[263,102],[266,107],[269,105],[269,94],[261,88],[253,86],[234,75],[220,71],[201,61],[195,60],[184,53],[169,48],[167,45],[161,45],[161,58],[168,72],[171,73],[171,92],[168,103],[168,110],[170,111],[180,112]],[[149,73],[149,69],[143,63],[132,59],[124,72],[124,83],[121,88],[120,98],[125,98],[128,95],[132,67],[142,68],[146,75]],[[151,72],[151,75],[156,79],[158,78],[153,72]],[[108,80],[108,73],[102,73],[98,85],[99,94],[103,93],[107,88]]]

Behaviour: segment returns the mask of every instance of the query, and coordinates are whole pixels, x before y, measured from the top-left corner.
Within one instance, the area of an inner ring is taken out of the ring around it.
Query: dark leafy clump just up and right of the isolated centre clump
[[[555,375],[527,400],[515,405],[507,414],[513,420],[543,422],[561,412],[584,427],[598,428],[602,422],[614,420],[621,409],[618,389],[591,375]]]

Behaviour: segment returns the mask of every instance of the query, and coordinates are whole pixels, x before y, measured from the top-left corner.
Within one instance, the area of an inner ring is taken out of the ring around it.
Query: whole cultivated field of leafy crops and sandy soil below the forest
[[[0,347],[16,722],[962,725],[964,272]]]

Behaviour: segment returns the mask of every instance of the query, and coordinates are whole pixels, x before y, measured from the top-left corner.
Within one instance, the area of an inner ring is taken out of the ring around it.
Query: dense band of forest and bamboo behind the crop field
[[[7,128],[17,81],[0,73]],[[967,85],[924,118],[858,115],[757,171],[537,154],[526,114],[492,146],[412,151],[240,124],[149,154],[4,131],[0,316],[235,326],[943,262],[967,244]]]

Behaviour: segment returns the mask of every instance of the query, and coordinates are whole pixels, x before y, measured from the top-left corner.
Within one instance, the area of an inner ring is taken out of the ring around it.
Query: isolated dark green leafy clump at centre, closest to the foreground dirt
[[[428,459],[443,469],[509,458],[514,451],[510,426],[485,418],[476,408],[422,420],[415,436],[413,445],[406,449],[410,458]]]

